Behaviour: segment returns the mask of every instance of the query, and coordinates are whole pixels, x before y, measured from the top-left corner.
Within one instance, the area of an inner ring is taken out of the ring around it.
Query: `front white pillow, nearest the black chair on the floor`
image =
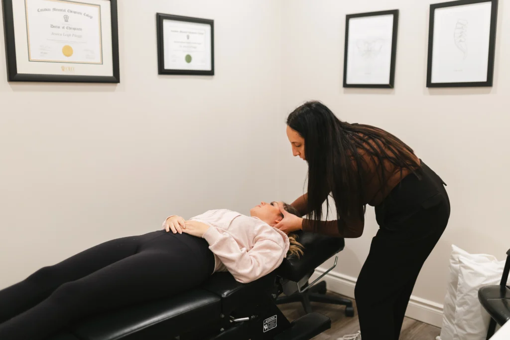
[[[453,340],[485,340],[491,317],[478,301],[478,290],[499,284],[505,261],[480,263],[462,255],[459,261]]]

